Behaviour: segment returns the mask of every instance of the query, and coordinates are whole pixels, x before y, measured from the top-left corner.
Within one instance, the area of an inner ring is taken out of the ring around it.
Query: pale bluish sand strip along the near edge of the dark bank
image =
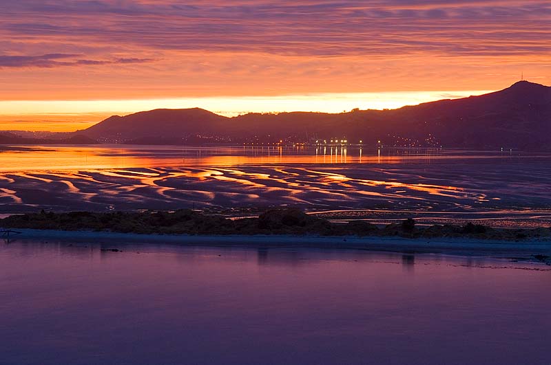
[[[105,241],[113,243],[167,243],[181,245],[318,247],[332,249],[360,249],[393,252],[434,252],[486,256],[515,253],[551,255],[551,239],[526,241],[493,241],[480,239],[405,239],[402,237],[357,236],[289,236],[289,235],[226,235],[189,236],[185,234],[132,234],[117,232],[18,230],[12,239],[63,241]]]

